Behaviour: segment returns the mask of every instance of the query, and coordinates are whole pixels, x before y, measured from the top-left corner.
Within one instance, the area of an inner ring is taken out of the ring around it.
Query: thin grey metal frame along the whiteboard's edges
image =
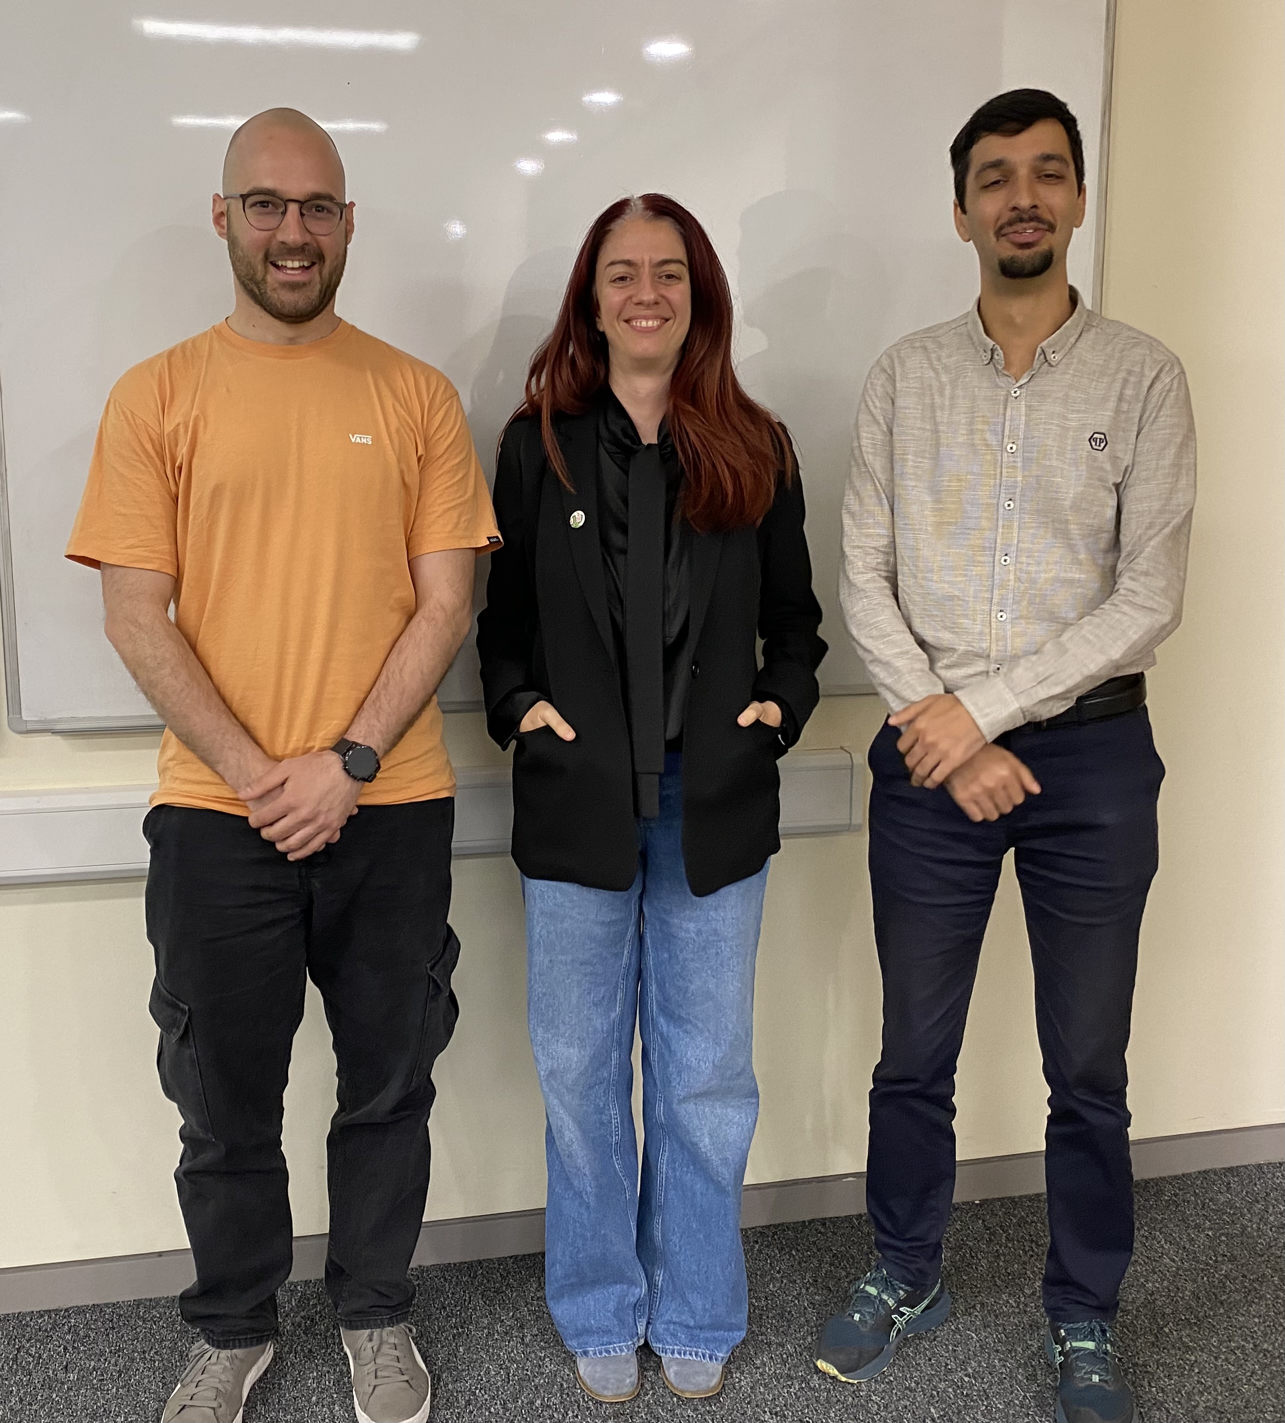
[[[1101,115],[1096,182],[1097,212],[1093,233],[1093,290],[1089,297],[1089,305],[1094,310],[1101,310],[1101,292],[1106,270],[1107,174],[1110,169],[1111,151],[1111,83],[1116,70],[1116,9],[1117,0],[1107,0],[1106,33],[1103,36]],[[0,387],[0,638],[3,638],[4,646],[4,702],[9,729],[10,731],[17,731],[20,734],[54,731],[61,736],[97,736],[108,731],[159,731],[164,729],[165,723],[157,716],[46,717],[41,720],[24,717],[21,672],[18,667],[17,601],[14,592],[13,542],[9,518],[9,482],[4,462],[4,391],[3,387]],[[875,690],[871,686],[830,686],[821,689],[821,696],[850,697],[874,694]],[[447,713],[482,710],[482,703],[480,700],[444,700],[438,704],[441,710]]]

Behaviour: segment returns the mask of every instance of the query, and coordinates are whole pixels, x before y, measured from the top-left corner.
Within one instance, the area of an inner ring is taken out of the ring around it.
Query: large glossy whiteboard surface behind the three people
[[[347,166],[340,313],[450,376],[488,471],[592,218],[652,189],[690,206],[733,283],[741,377],[798,445],[824,690],[867,690],[837,616],[862,380],[898,336],[975,297],[946,148],[1002,90],[1050,88],[1080,120],[1072,279],[1096,299],[1110,0],[313,0],[303,14],[277,0],[0,13],[10,726],[157,724],[102,636],[98,579],[63,548],[114,380],[231,309],[209,195],[231,125],[276,104],[333,125]],[[480,593],[484,573],[485,559]],[[441,699],[477,704],[471,642]]]

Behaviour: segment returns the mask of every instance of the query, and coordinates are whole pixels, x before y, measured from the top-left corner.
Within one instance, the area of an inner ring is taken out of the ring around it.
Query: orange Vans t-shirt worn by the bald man
[[[346,322],[305,346],[221,323],[117,381],[67,556],[174,575],[175,625],[283,758],[347,730],[414,616],[410,559],[498,542],[441,371]],[[154,804],[248,814],[169,731],[159,774]],[[360,804],[454,788],[434,699]]]

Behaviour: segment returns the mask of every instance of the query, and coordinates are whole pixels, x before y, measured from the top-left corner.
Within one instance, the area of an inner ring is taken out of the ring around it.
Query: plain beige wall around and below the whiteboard
[[[1170,776],[1131,1052],[1140,1137],[1285,1117],[1281,41],[1279,0],[1120,4],[1104,306],[1183,357],[1201,438],[1187,619],[1153,677]],[[878,720],[869,699],[825,702],[808,744],[860,750]],[[478,719],[451,721],[457,764],[497,754]],[[149,737],[0,733],[0,787],[148,780],[154,751]],[[861,835],[797,840],[773,868],[751,1180],[862,1167],[878,1040],[864,851]],[[508,861],[457,862],[453,919],[465,946],[464,1016],[440,1069],[428,1207],[438,1218],[521,1210],[544,1195]],[[149,978],[139,885],[0,891],[0,1266],[184,1244]],[[324,1228],[322,1136],[333,1101],[314,1009],[287,1109],[300,1234]],[[961,1066],[961,1155],[1037,1150],[1043,1099],[1030,969],[1006,881]]]

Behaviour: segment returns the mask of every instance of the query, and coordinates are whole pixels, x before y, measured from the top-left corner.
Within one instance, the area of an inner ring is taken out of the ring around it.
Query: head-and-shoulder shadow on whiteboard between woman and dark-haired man
[[[842,231],[834,203],[807,189],[761,198],[741,213],[739,296],[751,350],[739,363],[746,388],[786,421],[808,495],[808,546],[823,605],[838,585],[838,518],[861,384],[878,356],[887,309],[882,263],[868,242]],[[753,350],[753,330],[766,346]],[[821,628],[831,690],[868,687],[865,670],[834,619]]]

